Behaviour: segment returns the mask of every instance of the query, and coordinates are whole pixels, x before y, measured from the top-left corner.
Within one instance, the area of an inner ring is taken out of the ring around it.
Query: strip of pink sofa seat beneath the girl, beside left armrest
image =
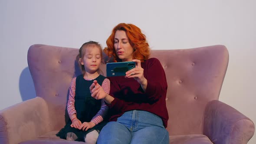
[[[85,142],[81,141],[67,141],[57,137],[59,131],[50,131],[44,135],[37,137],[36,139],[30,141],[23,141],[19,144],[85,144]]]

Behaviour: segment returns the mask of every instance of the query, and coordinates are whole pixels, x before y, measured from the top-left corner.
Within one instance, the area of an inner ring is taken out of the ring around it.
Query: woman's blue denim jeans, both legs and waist
[[[169,133],[157,115],[133,110],[108,122],[99,133],[97,144],[169,144]]]

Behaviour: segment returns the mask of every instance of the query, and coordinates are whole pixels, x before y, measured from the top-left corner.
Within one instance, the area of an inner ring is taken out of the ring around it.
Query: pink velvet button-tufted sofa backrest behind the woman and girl
[[[36,44],[28,50],[28,65],[36,96],[46,100],[49,127],[60,130],[66,113],[69,85],[80,75],[75,61],[79,49]],[[202,134],[203,111],[209,101],[219,98],[228,65],[225,46],[193,49],[151,50],[167,77],[166,104],[170,135]],[[105,75],[105,64],[101,67]]]

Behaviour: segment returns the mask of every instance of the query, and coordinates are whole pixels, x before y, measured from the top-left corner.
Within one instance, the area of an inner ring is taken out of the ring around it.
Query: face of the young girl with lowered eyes
[[[97,46],[90,46],[84,48],[84,56],[80,58],[80,63],[84,65],[85,71],[91,74],[98,71],[99,66],[101,64],[102,56],[101,56],[101,49]]]

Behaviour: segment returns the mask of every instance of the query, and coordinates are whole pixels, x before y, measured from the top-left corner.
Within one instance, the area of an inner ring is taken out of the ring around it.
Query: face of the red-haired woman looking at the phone
[[[125,31],[117,30],[115,32],[114,47],[118,58],[123,62],[132,60],[132,53],[134,50],[129,43],[129,39]]]

